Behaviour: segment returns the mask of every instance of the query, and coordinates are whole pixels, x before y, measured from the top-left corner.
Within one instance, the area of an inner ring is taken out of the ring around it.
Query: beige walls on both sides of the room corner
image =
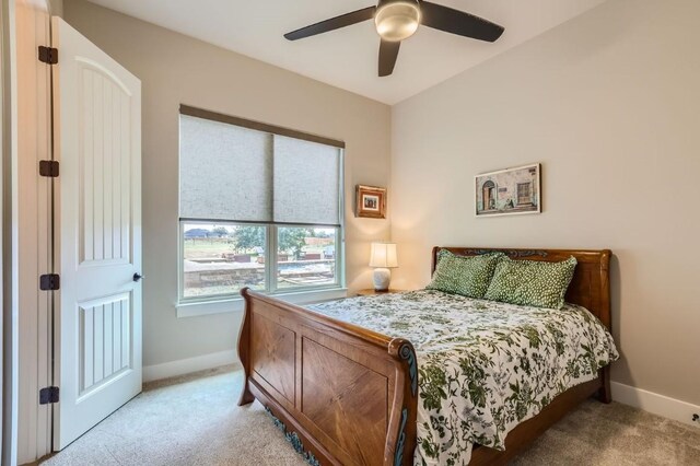
[[[347,141],[351,288],[370,284],[369,243],[388,234],[385,221],[353,218],[352,186],[386,185],[389,174],[396,288],[425,284],[436,244],[611,248],[623,356],[614,380],[700,404],[697,1],[609,0],[392,115],[83,0],[65,3],[69,23],[143,81],[145,365],[233,349],[240,318],[175,317],[186,103]],[[532,162],[542,163],[544,213],[474,217],[475,174]]]

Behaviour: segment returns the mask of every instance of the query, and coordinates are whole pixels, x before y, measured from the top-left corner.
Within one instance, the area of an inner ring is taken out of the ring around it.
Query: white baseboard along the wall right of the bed
[[[610,388],[612,389],[612,399],[615,401],[686,424],[700,427],[700,423],[692,420],[693,413],[700,415],[700,406],[635,388],[619,382],[611,382]]]

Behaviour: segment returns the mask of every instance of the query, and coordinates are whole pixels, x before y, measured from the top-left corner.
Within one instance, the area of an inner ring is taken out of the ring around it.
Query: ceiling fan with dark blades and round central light
[[[419,24],[435,30],[494,42],[503,34],[503,26],[482,18],[423,0],[380,0],[376,7],[368,7],[341,14],[301,30],[284,34],[289,40],[315,36],[340,27],[351,26],[374,18],[380,44],[380,77],[394,72],[401,40],[412,36]]]

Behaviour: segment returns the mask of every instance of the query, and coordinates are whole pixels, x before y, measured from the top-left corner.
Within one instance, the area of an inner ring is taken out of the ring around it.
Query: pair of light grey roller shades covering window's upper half
[[[340,225],[341,149],[180,115],[180,218]]]

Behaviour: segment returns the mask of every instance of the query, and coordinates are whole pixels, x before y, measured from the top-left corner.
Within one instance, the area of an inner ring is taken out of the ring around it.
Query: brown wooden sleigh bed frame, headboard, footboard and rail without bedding
[[[441,247],[433,248],[432,270]],[[446,247],[474,256],[579,264],[567,301],[610,328],[610,252]],[[411,465],[416,447],[418,370],[410,341],[336,321],[303,307],[242,291],[246,311],[238,341],[245,370],[240,405],[258,399],[311,464]],[[498,465],[521,452],[584,399],[610,403],[609,366],[556,397],[518,424],[505,451],[475,445],[470,465]]]

